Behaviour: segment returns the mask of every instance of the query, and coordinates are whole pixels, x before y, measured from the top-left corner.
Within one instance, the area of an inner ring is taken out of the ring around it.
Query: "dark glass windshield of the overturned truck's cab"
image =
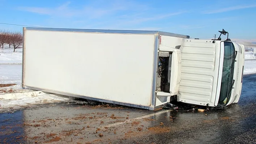
[[[224,42],[224,58],[221,79],[221,91],[219,93],[218,105],[226,105],[230,99],[234,79],[235,47],[232,42]]]

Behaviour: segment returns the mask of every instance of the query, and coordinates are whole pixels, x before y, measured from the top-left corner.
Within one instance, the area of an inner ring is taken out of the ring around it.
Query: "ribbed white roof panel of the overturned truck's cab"
[[[183,39],[181,80],[177,101],[214,106],[217,94],[220,41]]]

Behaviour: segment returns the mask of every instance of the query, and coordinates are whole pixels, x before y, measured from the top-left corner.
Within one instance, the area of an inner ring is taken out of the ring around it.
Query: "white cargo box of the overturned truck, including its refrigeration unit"
[[[186,35],[24,28],[22,87],[155,110],[179,90]]]

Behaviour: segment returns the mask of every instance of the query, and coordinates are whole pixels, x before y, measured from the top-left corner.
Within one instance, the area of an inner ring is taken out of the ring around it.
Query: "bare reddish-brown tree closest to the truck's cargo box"
[[[13,46],[13,52],[15,52],[15,50],[17,48],[22,48],[21,47],[21,44],[22,44],[21,32],[11,32],[9,40],[10,40],[10,44]]]

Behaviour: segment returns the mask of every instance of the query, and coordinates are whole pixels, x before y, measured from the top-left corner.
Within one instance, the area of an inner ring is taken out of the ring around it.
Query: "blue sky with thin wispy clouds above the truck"
[[[160,30],[256,42],[256,0],[0,0],[0,23],[75,29]],[[1,29],[21,31],[22,26]],[[246,31],[246,32],[244,32]]]

